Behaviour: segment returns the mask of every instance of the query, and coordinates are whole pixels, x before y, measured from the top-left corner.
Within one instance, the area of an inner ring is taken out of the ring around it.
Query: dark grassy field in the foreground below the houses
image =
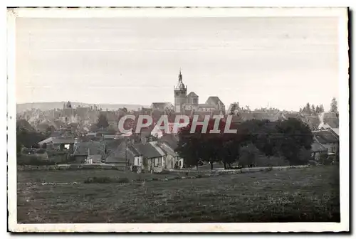
[[[18,171],[18,223],[340,221],[337,166],[173,179],[115,170]],[[83,184],[88,177],[169,181]],[[42,185],[41,183],[72,183]]]

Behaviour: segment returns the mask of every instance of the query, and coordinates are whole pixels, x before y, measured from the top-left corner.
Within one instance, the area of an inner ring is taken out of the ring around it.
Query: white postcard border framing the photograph
[[[18,224],[16,219],[16,17],[197,17],[197,16],[337,16],[340,19],[340,211],[341,223],[112,223],[112,224]],[[173,9],[13,9],[8,14],[8,200],[9,230],[14,232],[290,232],[350,230],[349,109],[347,9],[283,8],[173,8]]]

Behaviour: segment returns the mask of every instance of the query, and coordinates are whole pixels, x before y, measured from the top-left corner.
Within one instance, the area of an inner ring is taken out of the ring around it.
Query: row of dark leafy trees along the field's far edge
[[[239,124],[237,133],[223,133],[224,121],[219,123],[221,133],[218,134],[201,133],[201,126],[197,126],[195,133],[190,133],[191,127],[192,120],[179,130],[177,153],[184,159],[184,164],[197,166],[197,169],[201,161],[209,163],[211,169],[214,162],[219,161],[224,164],[224,169],[231,169],[234,163],[248,166],[251,161],[241,160],[241,154],[253,147],[265,155],[267,162],[271,156],[282,156],[291,165],[305,164],[310,159],[313,133],[298,119],[278,122],[251,119]],[[214,119],[211,119],[207,132],[213,128]]]

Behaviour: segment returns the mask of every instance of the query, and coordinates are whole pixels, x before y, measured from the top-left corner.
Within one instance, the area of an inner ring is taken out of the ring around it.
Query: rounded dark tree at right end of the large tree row
[[[313,143],[313,133],[307,124],[299,119],[290,118],[279,122],[277,127],[278,150],[290,164],[305,164],[300,158],[300,150],[310,150]]]

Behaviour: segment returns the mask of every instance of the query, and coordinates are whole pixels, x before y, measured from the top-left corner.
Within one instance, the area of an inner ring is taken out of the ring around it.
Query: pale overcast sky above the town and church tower
[[[337,18],[16,18],[16,102],[174,103],[179,69],[199,103],[330,109]]]

